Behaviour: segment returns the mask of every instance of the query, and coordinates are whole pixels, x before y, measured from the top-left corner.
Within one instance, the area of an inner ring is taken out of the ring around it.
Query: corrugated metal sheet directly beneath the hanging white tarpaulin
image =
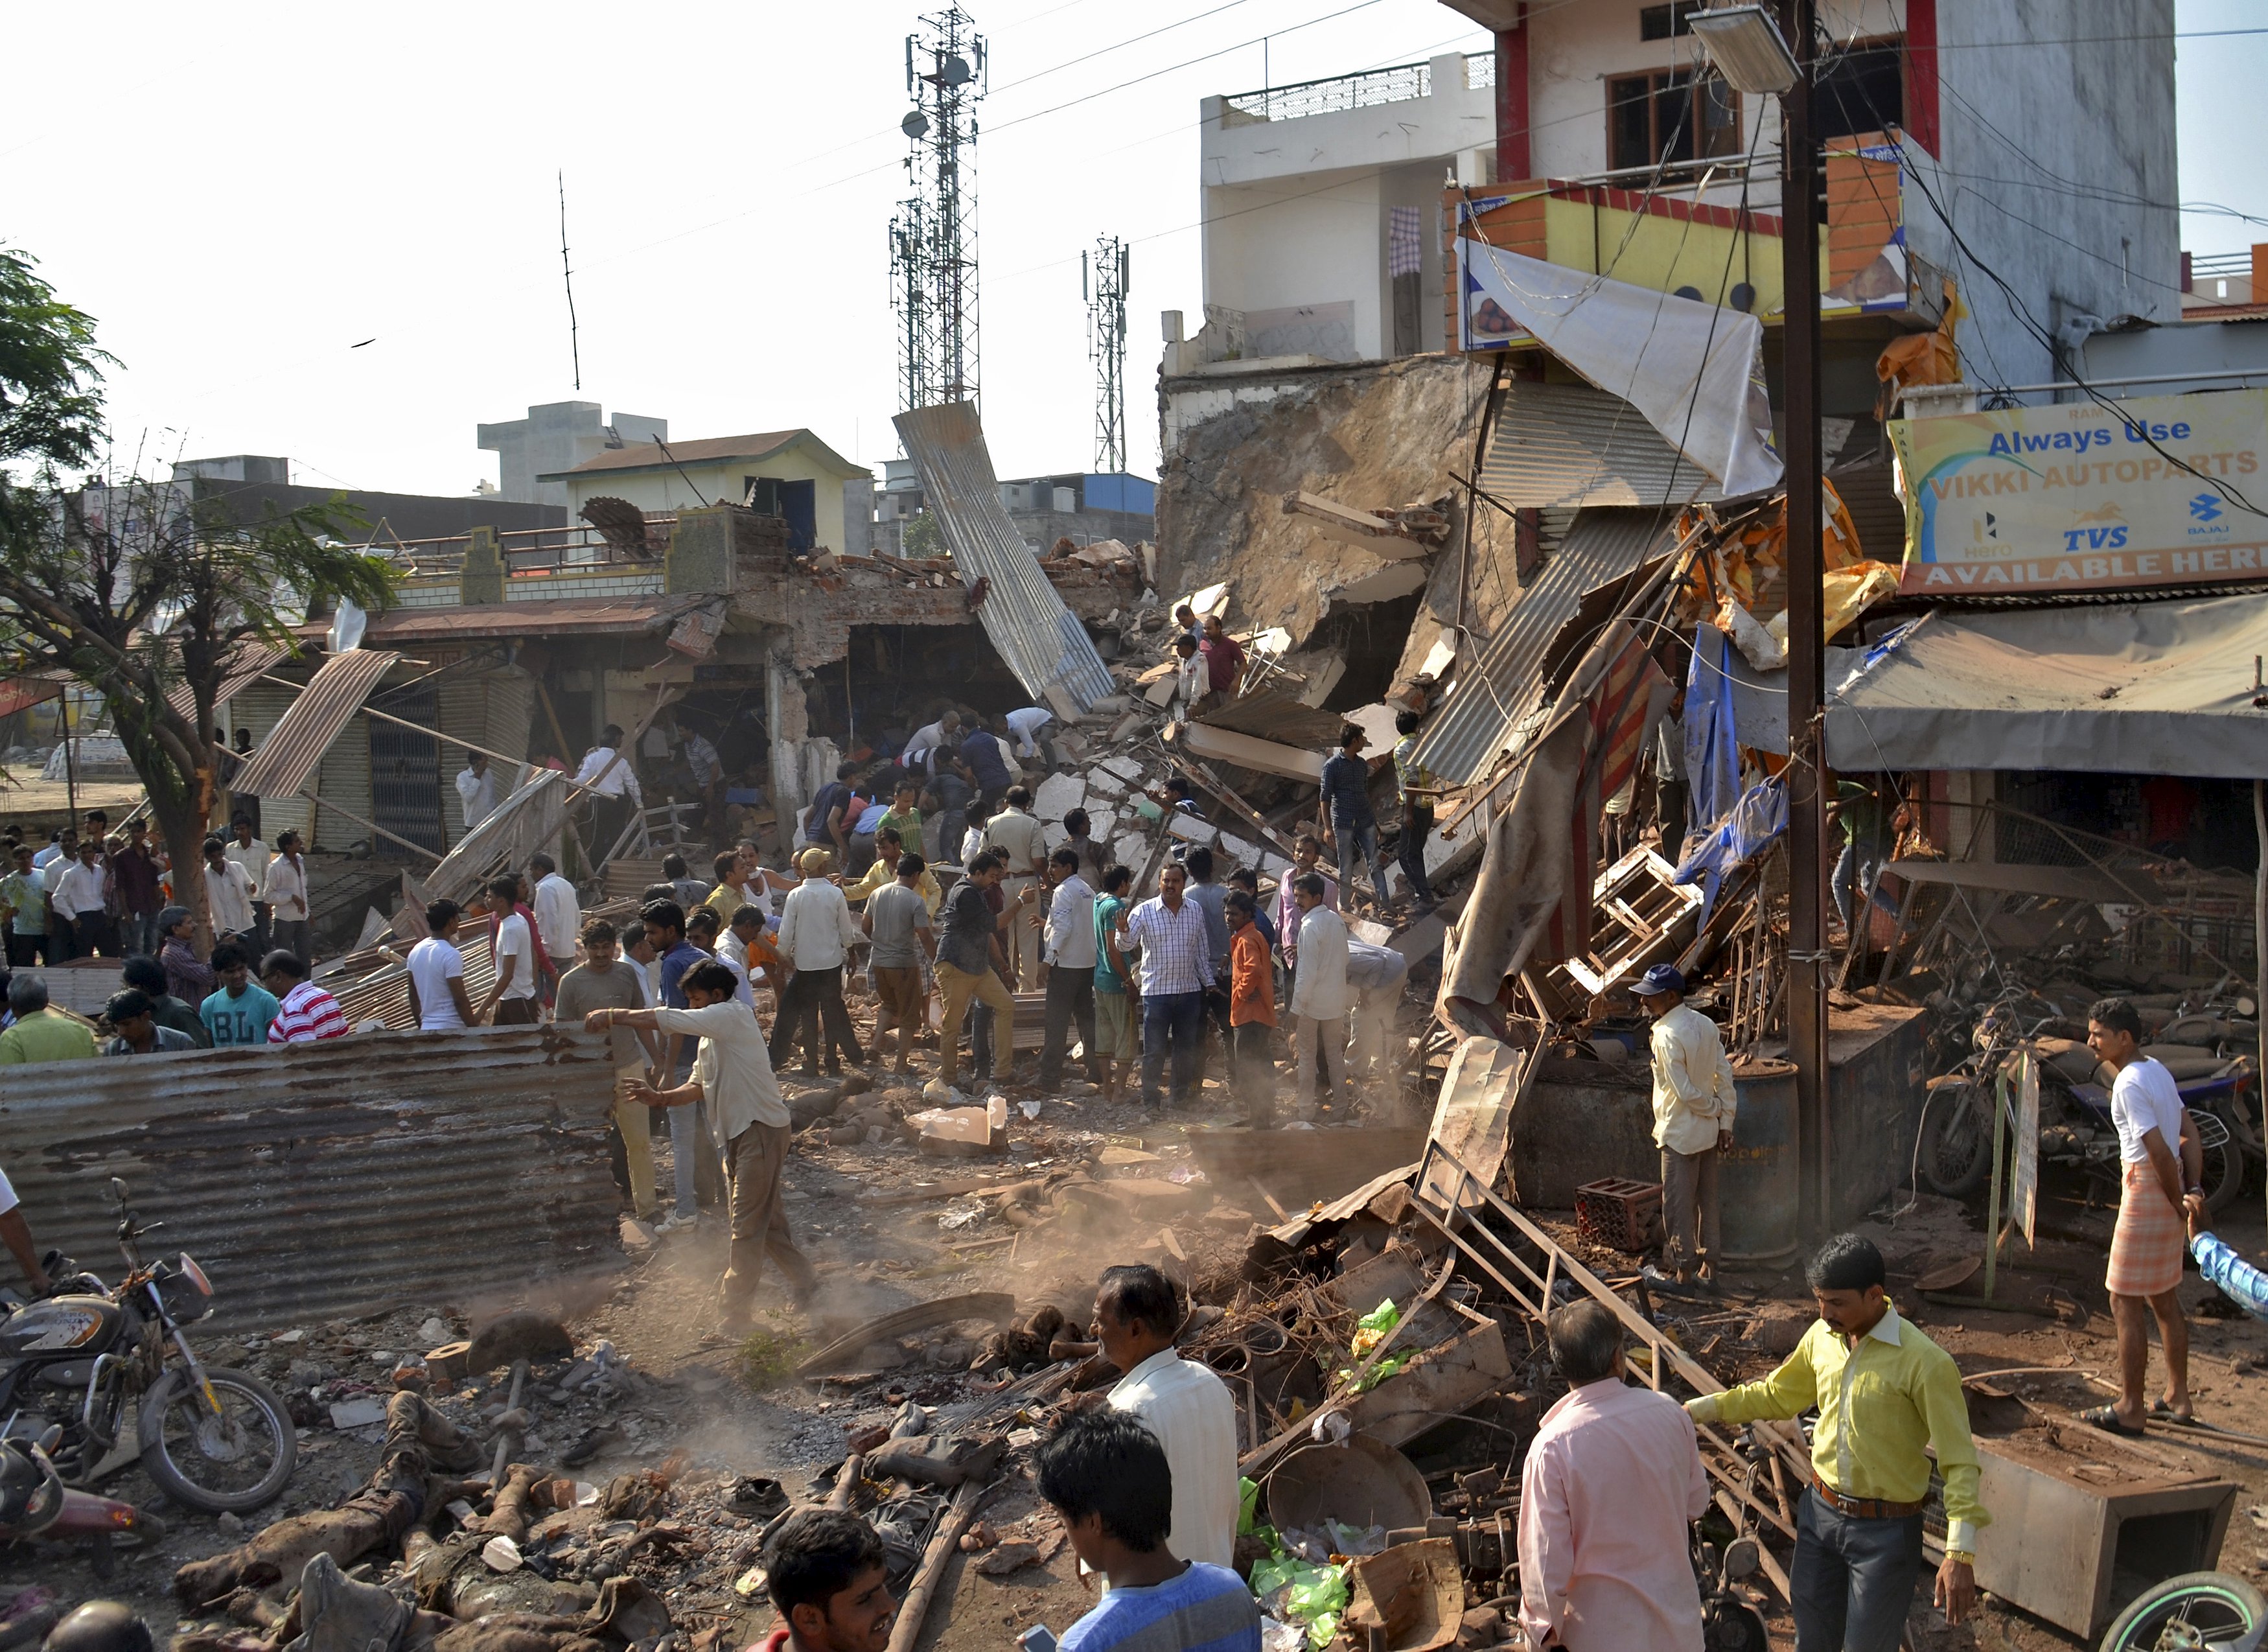
[[[1717,499],[1647,415],[1588,384],[1504,386],[1481,488],[1513,506],[1658,506]]]

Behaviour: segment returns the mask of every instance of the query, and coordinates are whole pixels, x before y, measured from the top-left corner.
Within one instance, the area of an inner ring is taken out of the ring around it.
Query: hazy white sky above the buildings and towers
[[[1009,477],[1089,465],[1077,259],[1107,231],[1134,243],[1127,424],[1132,467],[1157,474],[1157,315],[1200,306],[1202,95],[1488,43],[1438,0],[971,9],[993,84],[984,422]],[[914,16],[914,0],[16,7],[0,243],[98,318],[127,454],[288,454],[302,481],[467,492],[497,474],[474,424],[574,395],[565,168],[585,399],[678,438],[807,424],[880,463]],[[2259,20],[2257,0],[2180,0],[2182,30]],[[2268,36],[2182,45],[2184,200],[2268,218],[2263,68]],[[2184,218],[2195,252],[2254,234]]]

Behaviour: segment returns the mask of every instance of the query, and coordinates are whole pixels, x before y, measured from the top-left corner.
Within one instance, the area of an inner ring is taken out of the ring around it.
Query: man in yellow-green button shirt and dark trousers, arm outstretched
[[[1946,1477],[1946,1564],[1937,1604],[1948,1622],[1975,1607],[1978,1448],[1953,1355],[1898,1318],[1882,1293],[1882,1253],[1837,1234],[1805,1268],[1819,1323],[1762,1382],[1685,1402],[1694,1423],[1792,1418],[1819,1407],[1812,1489],[1796,1514],[1789,1575],[1796,1652],[1894,1652],[1921,1575],[1921,1504],[1930,1457]]]

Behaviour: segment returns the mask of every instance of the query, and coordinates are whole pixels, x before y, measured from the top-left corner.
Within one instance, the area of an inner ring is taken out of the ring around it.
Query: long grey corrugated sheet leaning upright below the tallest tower
[[[978,411],[966,402],[925,406],[900,413],[896,424],[962,581],[991,581],[978,620],[1016,681],[1043,703],[1068,701],[1070,715],[1109,694],[1111,672],[1086,626],[1064,606],[1000,504]]]

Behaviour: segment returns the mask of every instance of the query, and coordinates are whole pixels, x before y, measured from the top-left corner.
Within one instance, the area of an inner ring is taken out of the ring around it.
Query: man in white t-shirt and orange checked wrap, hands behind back
[[[2087,1012],[2087,1048],[2118,1069],[2112,1123],[2118,1128],[2118,1225],[2105,1287],[2118,1328],[2118,1402],[2082,1411],[2112,1434],[2141,1434],[2150,1414],[2191,1421],[2189,1323],[2182,1318],[2186,1225],[2204,1214],[2204,1150],[2189,1128],[2182,1089],[2166,1064],[2141,1053],[2141,1017],[2125,998]],[[2166,1393],[2143,1400],[2150,1318],[2166,1348]]]

